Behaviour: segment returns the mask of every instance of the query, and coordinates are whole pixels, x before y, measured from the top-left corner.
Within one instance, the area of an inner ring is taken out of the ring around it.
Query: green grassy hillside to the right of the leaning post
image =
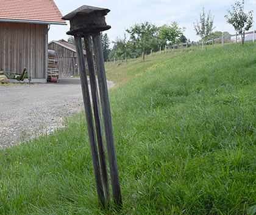
[[[256,205],[255,48],[132,64],[132,80],[111,94],[129,213],[244,214]]]

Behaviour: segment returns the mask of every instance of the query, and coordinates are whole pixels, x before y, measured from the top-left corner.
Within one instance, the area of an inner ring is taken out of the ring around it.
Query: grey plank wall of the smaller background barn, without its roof
[[[58,61],[59,77],[71,77],[78,75],[76,52],[66,49],[56,43],[50,43],[48,49],[55,50],[55,59]]]

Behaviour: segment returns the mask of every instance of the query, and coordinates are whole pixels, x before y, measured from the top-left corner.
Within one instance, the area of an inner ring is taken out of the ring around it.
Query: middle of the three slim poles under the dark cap
[[[85,50],[86,50],[89,76],[90,76],[91,97],[93,98],[94,120],[95,120],[96,134],[97,134],[98,148],[99,148],[99,162],[101,162],[102,183],[104,188],[105,200],[107,203],[109,203],[111,200],[111,195],[110,195],[110,188],[109,188],[109,182],[108,182],[104,135],[103,135],[102,122],[101,122],[101,109],[99,106],[99,95],[98,95],[98,87],[97,87],[97,81],[96,81],[96,75],[95,75],[95,69],[94,69],[91,35],[85,35],[84,41],[85,41]]]

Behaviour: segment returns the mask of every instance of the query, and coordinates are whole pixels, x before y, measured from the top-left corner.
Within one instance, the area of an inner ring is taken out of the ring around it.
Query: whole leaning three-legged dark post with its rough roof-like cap
[[[122,206],[121,189],[119,185],[118,165],[116,161],[115,142],[113,137],[112,119],[108,100],[107,80],[105,78],[104,58],[100,35],[100,32],[108,30],[111,27],[107,26],[105,22],[105,15],[107,15],[108,12],[110,12],[110,10],[108,9],[83,5],[82,7],[79,7],[79,9],[76,9],[68,15],[64,16],[63,19],[70,21],[70,30],[69,32],[67,32],[67,34],[73,35],[76,42],[77,58],[81,74],[80,80],[84,98],[85,114],[87,118],[91,155],[93,159],[94,177],[96,180],[96,189],[99,196],[99,200],[103,206],[105,206],[110,201],[110,188],[108,183],[107,163],[105,159],[103,126],[101,122],[102,109],[113,198],[115,200],[115,203],[120,208]],[[91,111],[91,101],[88,90],[87,75],[85,71],[85,60],[82,50],[82,38],[84,38],[85,40],[85,49],[87,52],[88,70],[91,85],[91,97],[93,100],[93,112],[96,126],[98,148],[95,138],[94,121],[93,114]],[[99,93],[101,98],[101,108],[99,105],[98,87],[96,74],[94,70],[93,50],[96,62]],[[99,168],[99,160],[101,164],[101,169]]]

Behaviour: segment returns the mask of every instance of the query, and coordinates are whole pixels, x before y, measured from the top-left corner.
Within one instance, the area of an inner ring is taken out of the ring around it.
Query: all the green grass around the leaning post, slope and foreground
[[[0,214],[255,214],[255,50],[107,63],[123,211],[98,206],[82,113],[1,152]]]

